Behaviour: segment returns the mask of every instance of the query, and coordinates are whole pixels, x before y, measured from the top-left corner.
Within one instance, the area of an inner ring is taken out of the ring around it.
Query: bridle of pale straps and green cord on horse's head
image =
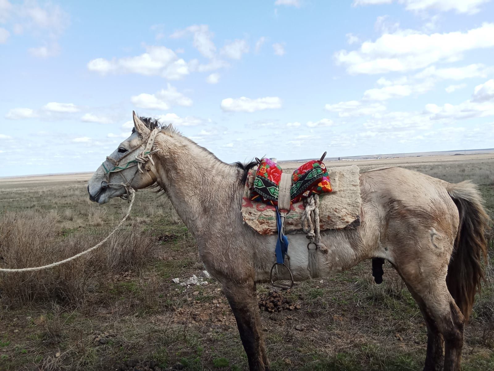
[[[140,174],[143,174],[144,171],[142,170],[143,166],[146,165],[146,163],[149,161],[151,162],[151,164],[154,166],[154,161],[153,161],[153,158],[152,158],[152,155],[159,152],[160,150],[159,149],[154,149],[153,150],[153,145],[154,145],[154,141],[155,141],[155,138],[156,138],[156,135],[160,132],[160,129],[158,128],[155,128],[151,131],[151,133],[149,134],[149,137],[146,139],[146,147],[144,148],[144,150],[140,151],[137,153],[137,155],[135,156],[135,158],[133,160],[130,160],[130,161],[127,161],[124,165],[123,165],[123,160],[125,158],[128,158],[128,156],[130,156],[131,154],[135,153],[136,151],[138,151],[142,145],[140,145],[139,147],[137,148],[134,148],[133,150],[127,152],[124,154],[124,156],[122,156],[120,159],[116,160],[114,158],[111,158],[110,156],[108,156],[106,158],[106,160],[108,162],[110,162],[112,165],[113,165],[113,168],[111,168],[111,166],[109,167],[106,167],[105,166],[105,162],[103,162],[101,164],[101,166],[103,167],[103,171],[105,172],[105,184],[101,185],[102,188],[107,188],[107,187],[112,187],[112,188],[125,188],[125,194],[120,196],[120,198],[124,199],[124,200],[127,200],[129,201],[130,200],[130,195],[131,195],[131,189],[132,189],[132,182],[134,181],[134,178],[135,176],[137,175],[137,172],[139,172]],[[143,140],[144,141],[144,140]],[[121,172],[122,170],[125,170],[125,169],[128,169],[132,166],[136,166],[137,165],[137,169],[135,170],[135,173],[134,175],[132,176],[132,178],[130,178],[129,180],[127,180],[123,174],[120,174],[122,176],[122,178],[124,178],[125,182],[122,182],[122,183],[110,183],[110,173],[117,173],[117,172]]]

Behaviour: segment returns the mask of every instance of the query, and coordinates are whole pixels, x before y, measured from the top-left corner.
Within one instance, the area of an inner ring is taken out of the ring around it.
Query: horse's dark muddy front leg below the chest
[[[250,371],[268,371],[269,362],[261,332],[255,283],[223,282],[223,290],[237,320]]]

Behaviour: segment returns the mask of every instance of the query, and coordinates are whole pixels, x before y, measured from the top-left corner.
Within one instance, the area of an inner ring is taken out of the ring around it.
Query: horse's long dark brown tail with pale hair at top
[[[487,260],[485,231],[489,217],[477,185],[470,181],[449,184],[448,193],[459,213],[459,226],[446,283],[456,305],[468,321],[477,288],[484,280],[482,258]]]

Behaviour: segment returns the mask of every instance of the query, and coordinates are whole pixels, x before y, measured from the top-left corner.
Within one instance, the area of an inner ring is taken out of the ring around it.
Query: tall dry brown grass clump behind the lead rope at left
[[[57,214],[58,215],[58,214]],[[36,267],[73,256],[110,232],[60,232],[53,212],[6,212],[0,217],[0,261],[5,268]],[[0,274],[3,305],[50,299],[80,305],[108,275],[139,269],[156,256],[155,239],[133,225],[99,249],[49,270]]]

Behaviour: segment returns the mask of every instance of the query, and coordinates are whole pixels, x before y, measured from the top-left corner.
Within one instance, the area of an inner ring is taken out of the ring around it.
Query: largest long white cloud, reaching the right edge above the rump
[[[337,51],[334,57],[351,74],[405,72],[436,62],[459,60],[468,50],[493,47],[493,33],[494,23],[484,23],[467,32],[431,35],[398,30],[382,35],[375,42],[364,42],[357,50]]]

